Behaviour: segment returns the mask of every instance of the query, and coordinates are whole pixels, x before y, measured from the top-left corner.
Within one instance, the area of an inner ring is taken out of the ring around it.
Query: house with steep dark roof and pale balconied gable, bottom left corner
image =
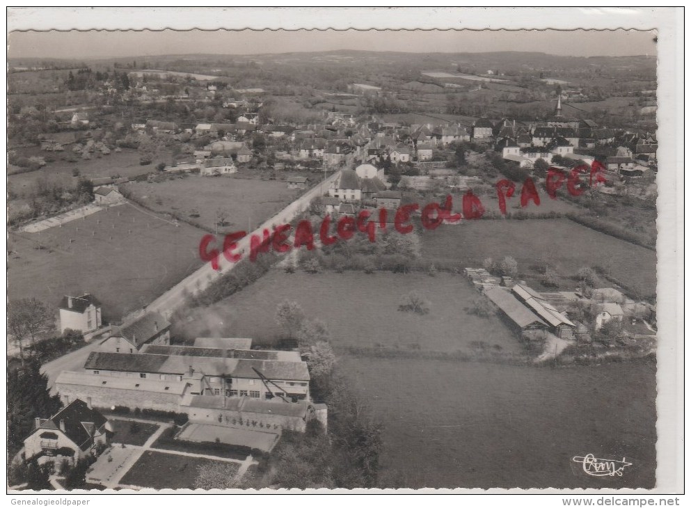
[[[108,420],[87,400],[75,399],[50,418],[35,418],[33,431],[24,439],[26,459],[77,461],[107,445]]]

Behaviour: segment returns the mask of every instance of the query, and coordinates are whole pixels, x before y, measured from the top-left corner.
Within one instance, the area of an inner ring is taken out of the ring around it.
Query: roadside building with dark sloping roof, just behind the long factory
[[[114,326],[99,351],[136,354],[144,344],[170,344],[170,322],[159,312],[148,312],[132,322]]]

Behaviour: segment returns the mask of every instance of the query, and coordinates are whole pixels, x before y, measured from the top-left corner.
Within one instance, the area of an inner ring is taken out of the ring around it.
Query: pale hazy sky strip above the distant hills
[[[293,51],[539,51],[566,56],[655,55],[646,31],[15,31],[10,58],[110,58]]]

